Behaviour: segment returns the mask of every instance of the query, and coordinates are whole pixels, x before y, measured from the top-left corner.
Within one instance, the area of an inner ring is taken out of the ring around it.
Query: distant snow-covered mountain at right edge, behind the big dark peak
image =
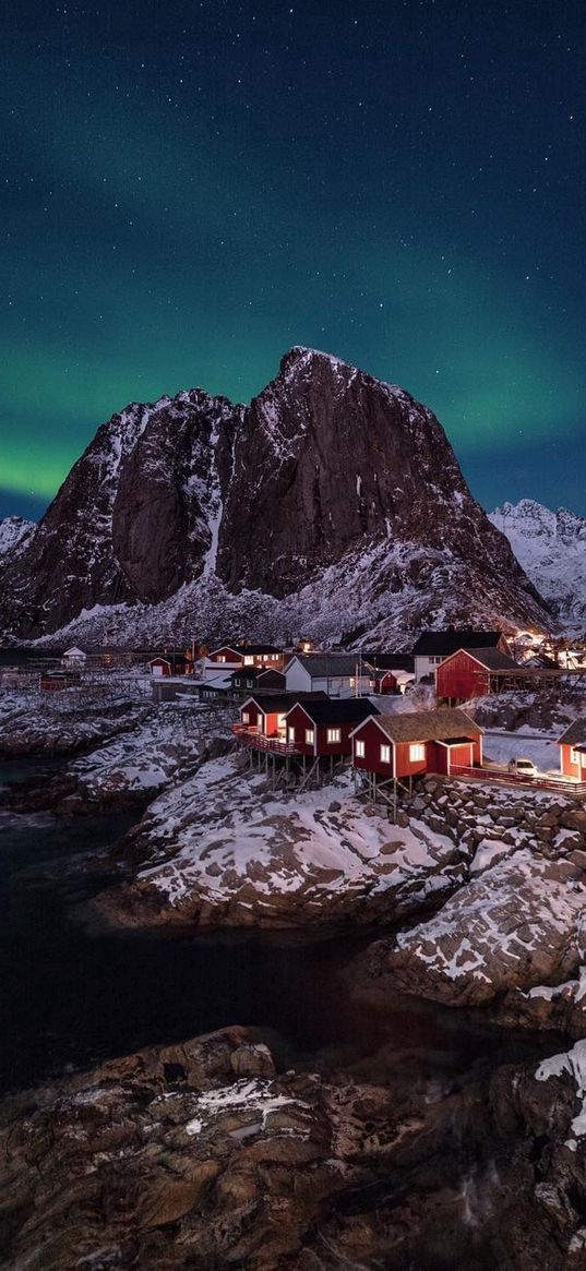
[[[531,498],[491,512],[538,591],[566,628],[586,628],[586,519],[566,507],[552,512]]]

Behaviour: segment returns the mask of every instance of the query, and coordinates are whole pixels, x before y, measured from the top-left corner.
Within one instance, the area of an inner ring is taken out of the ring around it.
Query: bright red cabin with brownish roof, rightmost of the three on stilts
[[[352,763],[383,778],[419,777],[482,764],[482,728],[465,710],[371,716],[352,731]]]

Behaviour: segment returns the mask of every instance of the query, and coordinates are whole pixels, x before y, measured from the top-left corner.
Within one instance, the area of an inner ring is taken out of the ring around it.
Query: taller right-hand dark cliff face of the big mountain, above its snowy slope
[[[447,437],[402,389],[313,350],[291,350],[245,412],[217,573],[276,596],[365,536],[491,553],[519,567],[472,498]]]

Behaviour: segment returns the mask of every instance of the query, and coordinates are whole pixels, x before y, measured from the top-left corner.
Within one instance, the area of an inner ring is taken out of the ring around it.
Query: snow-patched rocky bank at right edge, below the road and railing
[[[371,948],[369,979],[583,1036],[583,802],[428,779],[409,811],[469,849],[468,878],[427,921]]]

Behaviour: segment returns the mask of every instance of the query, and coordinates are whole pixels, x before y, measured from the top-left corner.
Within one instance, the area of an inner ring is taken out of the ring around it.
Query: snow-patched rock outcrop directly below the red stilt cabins
[[[350,775],[303,793],[271,792],[233,756],[202,765],[149,808],[140,827],[155,864],[140,872],[133,899],[145,910],[196,916],[205,904],[275,920],[323,920],[361,902],[383,911],[416,906],[454,886],[453,841],[421,825],[389,822],[353,794]],[[325,913],[324,913],[325,911]],[[145,914],[146,920],[149,914]]]

